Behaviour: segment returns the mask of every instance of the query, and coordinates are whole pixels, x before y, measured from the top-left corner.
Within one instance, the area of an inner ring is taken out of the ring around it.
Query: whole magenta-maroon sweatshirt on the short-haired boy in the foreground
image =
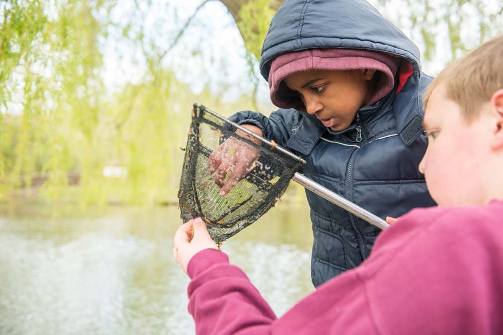
[[[188,274],[198,334],[503,334],[503,201],[412,210],[280,318],[223,252]]]

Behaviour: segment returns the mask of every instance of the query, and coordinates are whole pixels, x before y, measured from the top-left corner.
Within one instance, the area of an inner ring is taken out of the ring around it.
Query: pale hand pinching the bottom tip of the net
[[[192,257],[205,249],[218,249],[218,246],[211,239],[206,224],[200,217],[187,221],[175,233],[173,257],[185,273]]]

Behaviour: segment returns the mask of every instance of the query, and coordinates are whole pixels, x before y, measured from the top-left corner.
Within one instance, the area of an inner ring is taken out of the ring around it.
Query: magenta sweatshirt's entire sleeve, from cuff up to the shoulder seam
[[[196,254],[188,266],[189,312],[197,334],[374,334],[365,283],[348,271],[277,318],[244,272],[221,251]],[[355,315],[358,316],[355,322]]]

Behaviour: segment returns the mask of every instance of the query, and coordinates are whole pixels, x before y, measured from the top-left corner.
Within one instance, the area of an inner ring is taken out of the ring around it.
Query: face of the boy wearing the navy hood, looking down
[[[369,81],[374,70],[313,70],[292,74],[285,84],[299,93],[308,114],[333,131],[348,128],[370,99]]]

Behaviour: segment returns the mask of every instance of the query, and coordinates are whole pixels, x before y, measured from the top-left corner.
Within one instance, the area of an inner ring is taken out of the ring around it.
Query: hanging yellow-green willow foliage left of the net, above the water
[[[163,64],[169,47],[145,34],[154,4],[129,2],[131,13],[117,4],[0,1],[0,198],[42,181],[46,199],[61,199],[73,176],[79,183],[72,199],[82,203],[176,198],[190,118],[185,106],[195,96]],[[111,93],[102,50],[118,39],[139,54],[142,76]],[[201,95],[218,106],[208,90]],[[107,177],[110,166],[124,173]]]

